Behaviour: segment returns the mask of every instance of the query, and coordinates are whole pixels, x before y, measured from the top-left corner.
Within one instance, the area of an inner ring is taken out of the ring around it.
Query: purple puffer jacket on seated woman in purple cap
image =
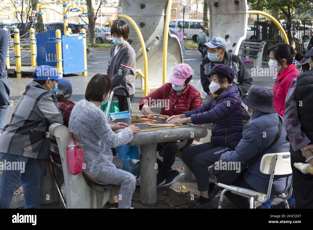
[[[242,138],[242,108],[237,85],[226,89],[196,110],[183,112],[193,124],[213,123],[213,146],[236,147]]]

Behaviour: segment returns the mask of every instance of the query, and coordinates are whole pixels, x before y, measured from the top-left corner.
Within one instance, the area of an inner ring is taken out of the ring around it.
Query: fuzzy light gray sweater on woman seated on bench
[[[115,167],[111,148],[125,145],[133,138],[128,128],[114,133],[104,112],[85,99],[74,106],[69,117],[69,129],[80,134],[80,143],[85,146],[84,158],[88,161],[88,167],[84,171],[93,178],[104,166]]]

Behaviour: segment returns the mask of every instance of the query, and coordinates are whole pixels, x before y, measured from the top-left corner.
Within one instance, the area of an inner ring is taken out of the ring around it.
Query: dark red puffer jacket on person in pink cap
[[[179,115],[182,112],[198,109],[201,106],[201,96],[197,89],[192,85],[187,84],[181,95],[176,95],[176,91],[172,88],[171,83],[166,83],[160,88],[154,90],[151,94],[141,99],[139,110],[144,104],[150,107],[158,104],[157,100],[164,102],[161,114],[162,115]],[[161,106],[161,104],[160,104]]]

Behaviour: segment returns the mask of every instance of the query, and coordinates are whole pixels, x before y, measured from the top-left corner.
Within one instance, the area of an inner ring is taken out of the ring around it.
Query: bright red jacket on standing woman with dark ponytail
[[[280,116],[284,116],[284,107],[286,96],[291,84],[292,79],[297,77],[300,72],[295,68],[295,64],[291,63],[286,69],[280,74],[277,73],[277,79],[274,83],[274,108]],[[275,91],[276,90],[276,91]]]

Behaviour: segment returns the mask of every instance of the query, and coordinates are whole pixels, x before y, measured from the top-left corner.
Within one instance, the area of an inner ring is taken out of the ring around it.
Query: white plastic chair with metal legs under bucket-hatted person
[[[221,193],[219,202],[218,202],[218,208],[222,208],[224,194],[227,191],[230,191],[231,193],[237,194],[242,197],[249,198],[250,208],[255,208],[255,201],[258,201],[261,203],[268,202],[269,196],[272,190],[274,175],[288,175],[292,173],[291,163],[290,163],[290,153],[282,152],[282,153],[265,154],[261,160],[260,171],[263,174],[270,175],[267,194],[250,190],[247,188],[218,183],[219,187],[224,188],[224,190]],[[291,194],[292,194],[292,179],[291,179],[290,190],[289,190],[288,196],[286,197],[284,193],[278,196],[279,198],[284,200],[284,204],[286,208],[289,208],[287,200],[291,197]],[[263,197],[263,199],[260,199],[259,197]]]

